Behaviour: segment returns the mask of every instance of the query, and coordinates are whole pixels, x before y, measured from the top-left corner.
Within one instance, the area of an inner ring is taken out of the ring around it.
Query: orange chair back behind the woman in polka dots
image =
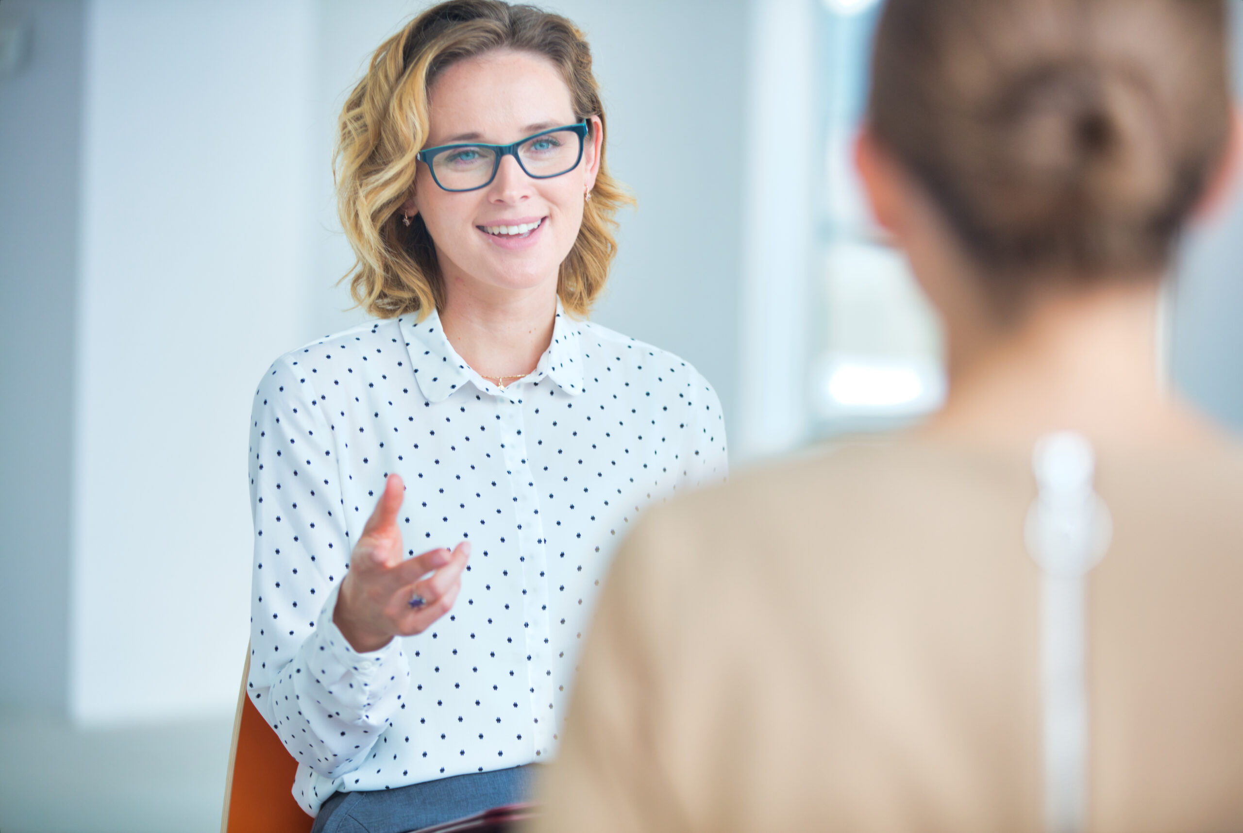
[[[297,761],[246,696],[250,647],[241,673],[220,833],[310,833],[314,819],[293,799]]]

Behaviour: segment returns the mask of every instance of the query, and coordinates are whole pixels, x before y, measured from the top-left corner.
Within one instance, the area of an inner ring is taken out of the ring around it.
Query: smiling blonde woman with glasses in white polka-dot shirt
[[[378,321],[277,359],[251,425],[246,691],[314,831],[526,797],[614,543],[725,476],[716,394],[587,320],[624,191],[564,17],[450,0],[377,50],[337,185]]]

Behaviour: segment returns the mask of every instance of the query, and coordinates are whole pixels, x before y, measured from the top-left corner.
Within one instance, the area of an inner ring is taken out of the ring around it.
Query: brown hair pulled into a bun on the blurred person
[[[889,0],[875,138],[1013,302],[1151,275],[1229,136],[1221,0]]]

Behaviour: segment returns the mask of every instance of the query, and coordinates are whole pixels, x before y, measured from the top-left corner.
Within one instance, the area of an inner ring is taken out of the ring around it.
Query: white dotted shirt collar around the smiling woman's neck
[[[398,323],[410,353],[414,378],[428,402],[443,402],[466,384],[474,384],[484,393],[505,395],[516,385],[538,384],[544,378],[551,379],[572,397],[583,392],[582,324],[566,315],[561,298],[557,298],[557,317],[553,321],[552,343],[548,344],[548,349],[539,357],[539,363],[531,375],[522,382],[513,382],[505,390],[480,377],[457,354],[449,343],[440,326],[440,315],[435,310],[421,322],[416,322],[414,316],[401,316]]]

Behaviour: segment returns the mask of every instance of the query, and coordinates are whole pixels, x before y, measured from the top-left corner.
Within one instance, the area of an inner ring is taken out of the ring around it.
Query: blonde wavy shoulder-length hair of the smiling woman
[[[333,154],[337,210],[357,256],[342,280],[349,278],[354,301],[373,316],[423,320],[444,306],[428,228],[419,215],[405,226],[398,209],[410,195],[429,133],[428,88],[450,65],[498,48],[551,60],[569,87],[576,121],[597,116],[604,124],[590,47],[559,15],[501,0],[449,0],[385,41],[341,112]],[[614,214],[628,203],[634,199],[609,177],[602,140],[592,199],[557,281],[568,312],[585,316],[604,288],[617,255]]]

